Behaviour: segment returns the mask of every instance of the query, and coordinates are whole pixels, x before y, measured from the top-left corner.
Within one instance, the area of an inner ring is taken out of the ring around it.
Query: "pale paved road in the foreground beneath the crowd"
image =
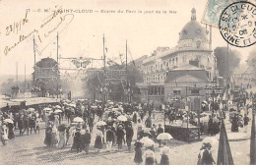
[[[136,126],[135,126],[136,127]],[[229,135],[230,124],[226,121],[226,130]],[[250,133],[250,132],[248,132]],[[136,134],[136,133],[135,133]],[[240,133],[237,133],[237,138]],[[43,144],[44,130],[40,134],[17,137],[15,140],[9,140],[8,145],[0,145],[0,164],[4,165],[134,165],[134,148],[128,152],[124,146],[118,150],[114,146],[112,152],[102,149],[99,153],[94,149],[94,143],[90,147],[90,154],[85,152],[76,153],[70,150],[70,146],[64,149],[57,147],[46,147]],[[92,141],[94,141],[94,136]],[[230,147],[234,164],[249,164],[250,140],[230,141]],[[197,154],[202,144],[201,141],[186,143],[179,140],[170,140],[169,154],[170,164],[173,165],[191,165],[197,163]],[[158,146],[158,145],[156,145]],[[218,144],[214,144],[213,156],[217,160]],[[160,161],[160,148],[156,148],[157,160]]]

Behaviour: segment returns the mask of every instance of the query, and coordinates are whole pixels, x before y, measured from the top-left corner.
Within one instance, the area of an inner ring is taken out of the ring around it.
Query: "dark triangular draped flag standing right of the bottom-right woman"
[[[217,164],[233,165],[231,149],[229,146],[229,142],[228,142],[225,127],[224,127],[224,119],[222,119],[222,125],[221,125]]]

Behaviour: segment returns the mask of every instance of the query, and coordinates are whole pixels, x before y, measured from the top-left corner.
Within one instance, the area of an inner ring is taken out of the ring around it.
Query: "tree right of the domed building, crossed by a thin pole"
[[[219,70],[219,75],[227,80],[227,69],[229,69],[229,74],[238,67],[240,63],[240,53],[236,50],[228,49],[226,47],[217,47],[214,51],[217,59],[217,69]],[[228,63],[228,66],[227,66]]]

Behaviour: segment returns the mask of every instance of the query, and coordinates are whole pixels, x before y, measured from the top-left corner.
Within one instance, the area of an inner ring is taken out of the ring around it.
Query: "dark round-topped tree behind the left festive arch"
[[[46,92],[50,95],[58,94],[60,89],[59,79],[60,73],[57,62],[52,58],[43,58],[33,67],[32,87],[33,91],[41,91],[42,96],[46,96]]]

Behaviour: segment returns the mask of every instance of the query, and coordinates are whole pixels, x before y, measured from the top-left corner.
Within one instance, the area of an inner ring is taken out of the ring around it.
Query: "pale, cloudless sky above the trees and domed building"
[[[0,75],[15,75],[16,62],[18,62],[19,75],[25,74],[25,65],[26,74],[32,74],[33,35],[36,43],[36,61],[45,57],[56,59],[57,31],[59,32],[58,52],[62,58],[81,56],[101,58],[103,34],[107,48],[106,57],[118,63],[119,54],[125,53],[126,39],[130,51],[128,61],[150,55],[158,46],[174,47],[178,41],[178,33],[190,21],[191,9],[193,7],[196,9],[197,21],[201,22],[206,5],[207,0],[2,0],[0,1]],[[63,10],[72,9],[77,12],[80,10],[81,13],[57,15],[52,22],[46,24],[45,28],[40,28],[52,15],[52,12],[42,11],[44,9],[53,11],[60,7]],[[30,12],[26,17],[27,9],[30,9]],[[105,12],[122,10],[123,13],[100,13],[101,10]],[[138,10],[142,11],[142,14],[138,14]],[[176,14],[156,14],[156,11],[163,10],[176,11]],[[154,13],[145,13],[145,11],[154,11]],[[60,21],[60,17],[62,17],[61,25],[53,29]],[[28,23],[23,24],[24,19],[27,19]],[[10,31],[10,25],[14,24],[18,25],[15,32]],[[7,55],[5,54],[7,46],[13,46],[19,41],[20,35],[28,35],[34,29],[39,32],[32,33]],[[43,38],[45,32],[49,30],[51,32],[46,33],[48,36]],[[41,41],[37,37],[38,34]],[[226,46],[226,42],[219,29],[213,28],[213,48],[218,46]],[[238,48],[229,45],[230,49],[241,53],[243,63],[253,47]]]

